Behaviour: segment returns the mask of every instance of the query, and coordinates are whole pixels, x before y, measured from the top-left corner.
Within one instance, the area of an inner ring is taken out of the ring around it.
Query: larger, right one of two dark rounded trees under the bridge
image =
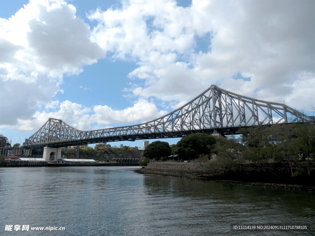
[[[205,133],[193,133],[180,139],[176,152],[182,160],[192,160],[199,155],[210,156],[216,143],[215,137]]]

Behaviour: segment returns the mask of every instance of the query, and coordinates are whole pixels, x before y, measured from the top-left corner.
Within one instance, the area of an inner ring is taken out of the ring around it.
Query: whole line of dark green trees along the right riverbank
[[[238,136],[214,137],[194,133],[176,145],[156,141],[144,151],[146,165],[151,159],[196,160],[213,175],[260,172],[271,176],[315,175],[315,126],[307,123],[258,125],[240,128]],[[210,160],[210,161],[209,161]]]

